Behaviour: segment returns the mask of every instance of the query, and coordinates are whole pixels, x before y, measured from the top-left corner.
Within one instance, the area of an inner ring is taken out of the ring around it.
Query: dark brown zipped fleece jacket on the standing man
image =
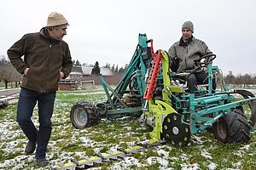
[[[7,53],[20,74],[29,68],[26,76],[23,76],[21,87],[43,94],[56,91],[60,71],[66,78],[73,65],[67,42],[49,37],[45,28],[21,37]]]

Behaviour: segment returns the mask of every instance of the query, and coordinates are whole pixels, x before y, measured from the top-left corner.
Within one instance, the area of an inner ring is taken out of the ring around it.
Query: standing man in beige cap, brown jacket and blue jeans
[[[67,26],[62,14],[50,13],[47,26],[40,32],[21,37],[7,52],[15,69],[23,75],[17,122],[28,139],[26,154],[37,149],[35,158],[38,165],[49,163],[45,152],[51,134],[55,91],[59,80],[69,75],[73,65],[67,42],[62,40],[67,34]],[[37,103],[39,129],[31,119]]]

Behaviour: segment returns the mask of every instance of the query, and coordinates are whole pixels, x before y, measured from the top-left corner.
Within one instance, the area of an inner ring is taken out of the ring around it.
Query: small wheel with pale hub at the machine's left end
[[[96,106],[88,102],[78,102],[70,111],[70,120],[76,128],[91,127],[98,122],[98,119]]]

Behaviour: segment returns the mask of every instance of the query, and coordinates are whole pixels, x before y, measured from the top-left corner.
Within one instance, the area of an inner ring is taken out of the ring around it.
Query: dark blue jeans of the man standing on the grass
[[[45,158],[45,152],[51,134],[51,116],[55,103],[55,92],[41,94],[26,88],[20,89],[17,108],[17,122],[26,138],[38,144],[36,158]],[[32,113],[38,102],[39,130],[32,122]]]

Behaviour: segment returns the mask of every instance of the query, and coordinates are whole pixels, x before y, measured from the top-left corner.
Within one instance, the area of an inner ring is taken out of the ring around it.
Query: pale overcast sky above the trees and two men
[[[181,37],[184,21],[207,43],[214,65],[233,74],[256,73],[255,0],[8,0],[1,2],[0,55],[24,34],[46,26],[49,13],[70,26],[63,38],[73,59],[100,65],[129,64],[139,33],[166,51]]]

